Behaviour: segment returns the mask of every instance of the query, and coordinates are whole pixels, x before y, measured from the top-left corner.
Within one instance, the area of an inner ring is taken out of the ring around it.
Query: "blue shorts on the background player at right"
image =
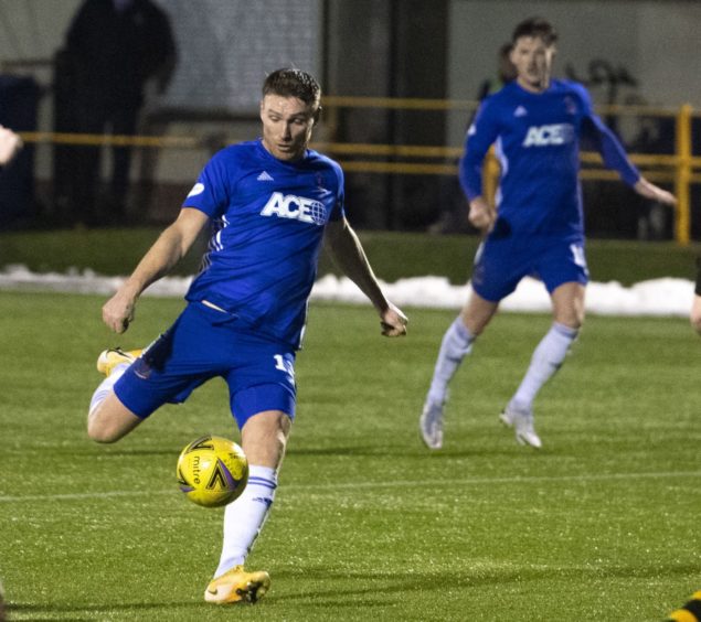
[[[512,293],[524,277],[543,281],[548,292],[561,285],[586,285],[590,272],[584,246],[571,240],[521,240],[488,238],[475,256],[472,289],[485,300],[499,302]]]

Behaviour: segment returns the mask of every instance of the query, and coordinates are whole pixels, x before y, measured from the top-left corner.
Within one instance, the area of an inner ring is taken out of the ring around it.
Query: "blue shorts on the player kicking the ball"
[[[185,307],[115,383],[115,393],[131,412],[146,418],[166,403],[183,403],[215,376],[229,385],[238,429],[265,410],[282,410],[294,418],[294,348],[253,333],[236,315],[201,302]]]

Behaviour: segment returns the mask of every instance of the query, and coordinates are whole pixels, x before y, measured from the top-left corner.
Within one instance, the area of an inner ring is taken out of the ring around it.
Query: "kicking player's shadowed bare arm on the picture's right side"
[[[326,243],[338,267],[378,310],[382,334],[405,335],[408,321],[406,315],[385,298],[355,232],[344,217],[329,222],[326,228]]]

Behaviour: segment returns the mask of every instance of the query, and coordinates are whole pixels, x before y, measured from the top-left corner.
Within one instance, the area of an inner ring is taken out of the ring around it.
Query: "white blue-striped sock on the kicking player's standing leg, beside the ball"
[[[224,544],[214,577],[242,565],[267,518],[277,472],[269,467],[248,467],[248,483],[242,495],[224,510]]]

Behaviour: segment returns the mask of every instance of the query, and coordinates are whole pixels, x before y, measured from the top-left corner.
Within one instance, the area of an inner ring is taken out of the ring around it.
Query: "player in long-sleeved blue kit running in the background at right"
[[[516,394],[500,415],[521,444],[542,446],[533,427],[533,400],[560,368],[584,320],[588,280],[578,182],[580,137],[591,137],[604,164],[651,200],[676,203],[644,179],[601,119],[586,89],[551,79],[553,26],[531,18],[517,25],[511,62],[517,78],[480,106],[467,132],[459,176],[469,201],[469,221],[486,238],[475,258],[469,299],[443,337],[431,388],[419,418],[429,449],[443,447],[448,383],[519,281],[538,276],[551,297],[553,323],[537,346]],[[481,168],[491,144],[501,164],[497,208],[482,196]]]

